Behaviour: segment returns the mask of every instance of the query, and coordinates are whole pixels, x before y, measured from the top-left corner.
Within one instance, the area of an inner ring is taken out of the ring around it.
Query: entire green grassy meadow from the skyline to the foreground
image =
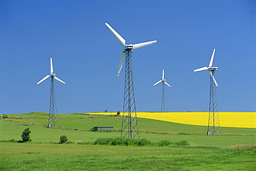
[[[115,113],[58,114],[56,128],[46,128],[44,112],[9,117],[0,119],[0,170],[253,170],[256,166],[255,128],[221,127],[221,134],[206,136],[205,125],[139,117],[141,139],[188,145],[113,146],[94,142],[120,137],[122,117]],[[114,130],[90,131],[94,126]],[[32,141],[17,143],[28,127]],[[62,135],[68,142],[58,144]]]

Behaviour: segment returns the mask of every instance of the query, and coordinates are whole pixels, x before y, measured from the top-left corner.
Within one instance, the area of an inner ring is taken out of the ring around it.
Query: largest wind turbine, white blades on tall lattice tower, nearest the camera
[[[124,50],[121,53],[118,72],[116,77],[119,77],[120,71],[122,69],[122,63],[125,60],[125,96],[123,103],[123,117],[122,117],[122,130],[121,137],[129,139],[138,138],[140,139],[140,135],[138,132],[138,122],[137,122],[137,114],[136,114],[136,105],[134,98],[134,82],[133,82],[133,74],[132,74],[132,66],[131,66],[131,50],[135,50],[138,48],[142,48],[144,46],[151,45],[156,43],[156,41],[147,41],[144,43],[136,43],[136,44],[126,44],[125,39],[123,39],[116,30],[113,30],[108,23],[105,23],[107,28],[114,34],[114,36],[120,41],[122,46],[124,46]]]

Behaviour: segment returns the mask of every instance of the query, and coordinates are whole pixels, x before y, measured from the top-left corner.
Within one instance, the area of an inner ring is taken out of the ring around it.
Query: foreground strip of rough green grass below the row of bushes
[[[0,170],[253,170],[255,154],[221,148],[0,143]]]

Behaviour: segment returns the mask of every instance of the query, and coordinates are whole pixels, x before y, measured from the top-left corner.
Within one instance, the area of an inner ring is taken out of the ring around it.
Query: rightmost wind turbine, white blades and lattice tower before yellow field
[[[216,86],[218,86],[218,83],[214,78],[214,72],[219,68],[216,66],[215,67],[212,66],[214,53],[215,53],[215,49],[212,52],[212,57],[210,59],[210,63],[208,67],[205,66],[203,68],[194,70],[194,72],[208,70],[210,74],[210,105],[209,105],[209,119],[208,119],[208,130],[207,130],[208,135],[221,132],[220,123],[219,123],[219,112],[217,107],[217,98],[216,98]]]

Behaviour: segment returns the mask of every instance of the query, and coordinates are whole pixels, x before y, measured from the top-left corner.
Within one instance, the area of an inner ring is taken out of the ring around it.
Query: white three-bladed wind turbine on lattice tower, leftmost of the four
[[[57,107],[55,101],[55,86],[54,79],[60,81],[61,83],[65,83],[61,79],[56,77],[56,74],[53,73],[53,59],[50,58],[50,74],[46,75],[42,80],[38,81],[37,84],[42,83],[44,80],[51,77],[51,97],[50,97],[50,110],[49,110],[49,118],[48,118],[48,128],[52,126],[57,126]]]

